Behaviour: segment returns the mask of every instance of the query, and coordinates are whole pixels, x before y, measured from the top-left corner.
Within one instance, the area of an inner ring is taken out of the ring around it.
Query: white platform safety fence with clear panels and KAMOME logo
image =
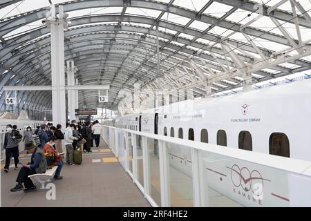
[[[153,206],[311,206],[311,162],[103,126]]]

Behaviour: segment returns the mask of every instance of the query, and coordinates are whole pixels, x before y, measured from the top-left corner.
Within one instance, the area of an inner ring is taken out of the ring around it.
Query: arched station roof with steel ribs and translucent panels
[[[250,71],[259,84],[311,67],[310,0],[2,0],[1,110],[4,85],[51,84],[50,30],[43,22],[50,3],[68,13],[65,57],[75,61],[79,83],[111,85],[106,108],[117,109],[120,90],[135,83],[192,88],[201,96],[204,81],[212,93],[240,88],[243,72],[236,70]],[[50,92],[43,93],[23,93],[19,105],[49,109]],[[97,107],[95,95],[79,92],[80,104]]]

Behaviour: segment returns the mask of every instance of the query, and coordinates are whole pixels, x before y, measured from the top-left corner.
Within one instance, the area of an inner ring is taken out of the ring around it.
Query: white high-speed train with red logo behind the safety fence
[[[160,106],[115,127],[311,161],[311,81]]]

